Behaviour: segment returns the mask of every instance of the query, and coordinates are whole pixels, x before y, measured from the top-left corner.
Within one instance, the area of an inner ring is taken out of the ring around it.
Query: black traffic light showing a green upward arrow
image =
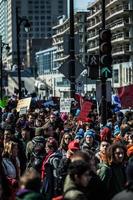
[[[100,75],[102,78],[112,78],[111,37],[110,29],[99,31]]]

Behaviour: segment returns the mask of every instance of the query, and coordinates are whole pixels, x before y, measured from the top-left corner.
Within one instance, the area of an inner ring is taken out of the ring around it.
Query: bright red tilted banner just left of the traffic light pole
[[[78,116],[78,121],[82,121],[82,122],[86,121],[86,118],[91,111],[92,105],[93,104],[90,101],[84,101],[84,103],[82,105],[82,109]]]

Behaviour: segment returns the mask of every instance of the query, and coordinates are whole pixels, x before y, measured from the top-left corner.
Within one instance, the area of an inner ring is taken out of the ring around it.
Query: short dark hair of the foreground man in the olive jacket
[[[89,164],[83,160],[76,160],[69,165],[68,174],[75,181],[75,175],[82,176],[86,171],[90,171]]]

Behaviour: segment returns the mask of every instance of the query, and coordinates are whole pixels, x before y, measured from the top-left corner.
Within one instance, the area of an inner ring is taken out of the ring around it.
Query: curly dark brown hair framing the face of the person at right
[[[111,144],[108,148],[107,148],[107,159],[108,159],[108,163],[112,164],[115,161],[115,150],[117,148],[121,148],[124,151],[124,160],[127,158],[127,149],[126,147],[120,143],[120,142],[116,142],[114,144]]]

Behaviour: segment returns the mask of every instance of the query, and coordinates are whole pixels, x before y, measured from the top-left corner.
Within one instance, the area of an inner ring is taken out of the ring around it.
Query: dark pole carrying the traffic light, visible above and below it
[[[105,29],[105,0],[102,0],[102,29]],[[105,126],[107,122],[106,77],[101,77],[101,91],[101,124]]]

